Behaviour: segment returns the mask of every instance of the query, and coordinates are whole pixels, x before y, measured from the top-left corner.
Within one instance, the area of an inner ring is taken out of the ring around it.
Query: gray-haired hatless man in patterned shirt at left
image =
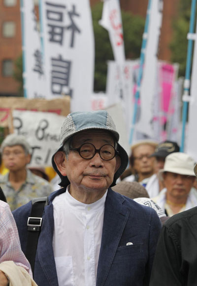
[[[0,151],[4,166],[9,170],[0,176],[0,186],[11,210],[27,204],[33,198],[48,196],[53,192],[49,182],[27,168],[31,161],[31,147],[24,136],[7,135]]]

